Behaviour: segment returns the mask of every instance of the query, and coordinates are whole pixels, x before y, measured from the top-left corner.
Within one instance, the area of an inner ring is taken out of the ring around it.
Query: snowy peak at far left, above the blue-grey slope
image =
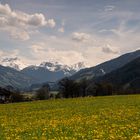
[[[0,64],[5,67],[11,67],[18,71],[27,67],[27,65],[25,65],[18,57],[3,58],[2,60],[0,60]]]

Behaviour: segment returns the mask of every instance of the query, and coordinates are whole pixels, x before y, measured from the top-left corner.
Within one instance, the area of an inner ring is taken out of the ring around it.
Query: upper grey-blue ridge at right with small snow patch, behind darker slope
[[[74,74],[71,78],[74,80],[80,80],[82,78],[92,79],[93,77],[103,76],[107,73],[110,73],[113,70],[116,70],[124,66],[125,64],[138,58],[139,56],[140,56],[140,50],[127,53],[118,58],[99,64],[95,67],[82,69],[76,74]]]

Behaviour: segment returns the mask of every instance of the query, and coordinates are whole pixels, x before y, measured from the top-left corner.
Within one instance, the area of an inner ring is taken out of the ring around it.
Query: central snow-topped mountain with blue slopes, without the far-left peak
[[[43,62],[39,66],[26,67],[21,72],[38,79],[39,82],[55,82],[66,76],[71,76],[83,68],[85,68],[83,62],[68,66],[58,62],[50,61]]]

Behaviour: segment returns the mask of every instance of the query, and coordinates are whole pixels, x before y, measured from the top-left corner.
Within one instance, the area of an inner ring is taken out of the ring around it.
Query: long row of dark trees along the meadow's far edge
[[[59,81],[58,87],[58,93],[53,94],[50,92],[49,84],[44,84],[36,91],[32,98],[24,96],[24,94],[21,94],[19,91],[14,91],[11,86],[7,86],[6,89],[10,92],[13,92],[10,98],[11,102],[47,100],[51,98],[76,98],[85,96],[136,94],[140,92],[140,90],[136,88],[121,87],[120,85],[112,85],[111,83],[107,82],[96,83],[87,79],[74,81],[69,78],[64,78]]]

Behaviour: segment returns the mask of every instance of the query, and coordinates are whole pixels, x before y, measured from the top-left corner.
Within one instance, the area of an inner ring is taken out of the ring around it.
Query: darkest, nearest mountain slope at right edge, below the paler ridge
[[[140,57],[117,70],[102,77],[98,77],[95,81],[112,83],[115,86],[125,88],[131,87],[140,89]]]

